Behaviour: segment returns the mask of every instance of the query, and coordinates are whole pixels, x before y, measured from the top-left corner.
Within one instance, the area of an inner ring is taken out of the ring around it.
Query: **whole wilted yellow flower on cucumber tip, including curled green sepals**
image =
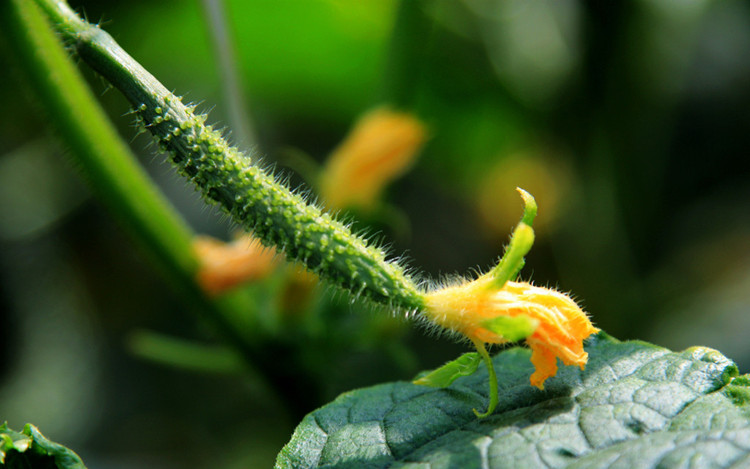
[[[464,354],[414,383],[445,387],[458,377],[473,373],[479,362],[484,361],[489,373],[490,399],[486,412],[474,409],[480,418],[492,414],[498,403],[497,377],[485,344],[525,339],[535,368],[529,380],[533,386],[544,389],[547,378],[557,373],[558,358],[565,365],[581,369],[586,366],[588,354],[583,341],[598,331],[568,295],[515,281],[524,265],[524,256],[534,243],[531,224],[537,209],[528,192],[518,191],[525,203],[524,215],[497,266],[474,281],[425,294],[424,318],[466,337],[477,353]]]

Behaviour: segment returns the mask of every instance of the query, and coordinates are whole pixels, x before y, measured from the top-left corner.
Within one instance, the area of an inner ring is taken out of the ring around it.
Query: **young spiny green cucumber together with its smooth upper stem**
[[[77,54],[130,101],[179,171],[211,202],[322,278],[355,295],[402,310],[423,309],[423,294],[403,268],[253,164],[205,124],[112,37],[62,0],[37,0]]]

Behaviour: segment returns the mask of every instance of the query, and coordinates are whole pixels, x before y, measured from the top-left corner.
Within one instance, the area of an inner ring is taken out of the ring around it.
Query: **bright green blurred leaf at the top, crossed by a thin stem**
[[[237,66],[254,103],[251,112],[270,105],[287,117],[341,120],[370,106],[393,3],[227,1]],[[115,13],[108,29],[146,69],[168,87],[212,102],[210,95],[219,85],[212,84],[217,80],[198,2],[135,3],[121,12],[106,10],[108,16]],[[170,20],[160,20],[165,17]],[[185,69],[195,73],[186,76],[181,73]]]

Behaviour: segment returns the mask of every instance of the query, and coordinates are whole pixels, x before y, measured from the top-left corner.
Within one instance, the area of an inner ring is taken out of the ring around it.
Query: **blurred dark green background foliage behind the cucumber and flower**
[[[227,96],[201,2],[71,4],[231,124],[238,95]],[[521,186],[540,206],[525,278],[573,292],[620,339],[711,346],[750,367],[748,2],[225,8],[247,135],[291,184],[314,185],[314,168],[377,106],[424,122],[418,161],[357,227],[425,279],[492,265]],[[264,467],[315,406],[463,350],[331,292],[279,319],[277,272],[244,288],[265,315],[265,359],[289,367],[286,381],[269,388],[231,357],[204,373],[136,357],[151,337],[136,331],[211,344],[211,328],[89,193],[14,74],[13,45],[2,47],[0,419],[33,422],[90,467]],[[81,68],[195,231],[230,239],[235,227],[133,137],[125,100]]]

